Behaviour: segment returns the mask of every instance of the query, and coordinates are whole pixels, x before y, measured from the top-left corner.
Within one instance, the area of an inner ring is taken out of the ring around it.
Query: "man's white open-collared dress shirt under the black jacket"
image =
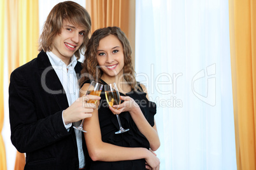
[[[71,62],[67,66],[62,60],[54,55],[51,51],[46,52],[50,63],[52,64],[53,69],[55,70],[56,74],[59,77],[59,80],[65,90],[68,104],[69,106],[76,101],[79,97],[79,86],[78,86],[78,79],[76,77],[75,66],[77,63],[76,56],[73,55],[71,57]],[[62,121],[63,120],[63,112],[62,112]],[[74,126],[79,126],[81,121],[74,122]],[[72,126],[72,123],[65,124],[64,126],[69,131],[69,128]],[[83,154],[83,144],[82,144],[82,131],[75,130],[76,134],[76,143],[78,147],[78,158],[79,158],[79,168],[85,167],[85,159]]]

